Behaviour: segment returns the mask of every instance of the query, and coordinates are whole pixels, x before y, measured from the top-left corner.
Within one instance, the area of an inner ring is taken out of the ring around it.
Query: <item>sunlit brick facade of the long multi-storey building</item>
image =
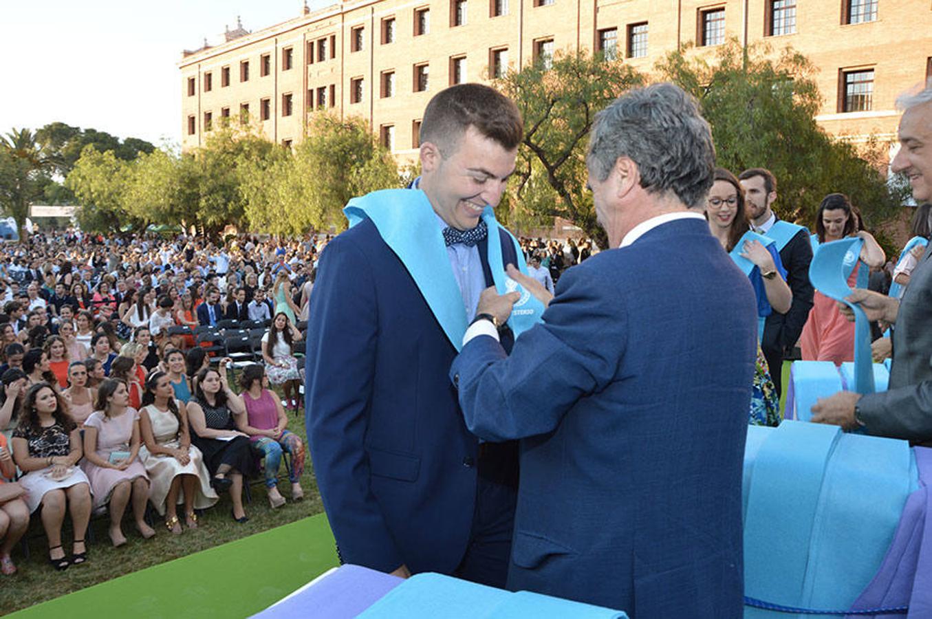
[[[725,8],[725,34],[741,41],[766,40],[774,48],[792,46],[816,64],[823,105],[817,119],[834,134],[860,139],[867,134],[895,136],[899,93],[925,80],[932,57],[932,7],[925,0],[880,0],[877,21],[844,25],[843,3],[798,0],[796,33],[766,36],[769,0],[555,0],[538,6],[539,0],[508,0],[508,14],[491,17],[494,0],[467,0],[467,19],[452,25],[452,0],[363,0],[336,5],[270,26],[215,48],[188,54],[179,62],[182,79],[181,134],[183,148],[203,144],[205,114],[216,121],[228,107],[238,117],[240,104],[248,103],[257,118],[263,99],[269,100],[270,117],[263,131],[276,142],[301,139],[306,123],[303,113],[318,107],[318,89],[326,90],[328,107],[344,116],[368,120],[374,131],[394,127],[394,152],[411,158],[416,146],[414,122],[419,120],[432,93],[451,83],[451,58],[465,55],[467,80],[487,81],[492,48],[508,48],[513,67],[530,62],[535,42],[552,38],[555,49],[596,48],[598,31],[617,28],[619,53],[627,48],[627,26],[647,21],[648,55],[629,59],[640,71],[649,72],[665,52],[692,41],[699,33],[701,11]],[[415,11],[430,9],[430,31],[415,35]],[[381,42],[383,20],[395,20],[395,40]],[[363,28],[363,48],[351,51],[352,29]],[[317,41],[325,39],[335,49],[330,58],[318,59]],[[308,63],[308,44],[315,59]],[[283,50],[293,49],[291,69],[283,66]],[[713,48],[698,53],[714,52]],[[260,75],[262,56],[269,55],[270,71]],[[240,62],[249,62],[250,77],[240,81]],[[428,63],[430,88],[415,91],[415,65]],[[229,67],[230,84],[221,85],[221,71]],[[840,72],[874,69],[873,107],[870,112],[840,112]],[[382,97],[380,77],[394,72],[395,91]],[[205,90],[205,76],[212,74],[212,89]],[[188,78],[195,78],[194,94],[188,95]],[[363,79],[363,97],[350,103],[350,80]],[[282,95],[291,93],[293,110],[283,116]],[[188,131],[188,118],[194,131]]]

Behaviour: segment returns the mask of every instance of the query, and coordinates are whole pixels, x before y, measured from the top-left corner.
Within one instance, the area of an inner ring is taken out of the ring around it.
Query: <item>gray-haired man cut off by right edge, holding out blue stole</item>
[[[893,172],[910,180],[917,202],[932,201],[932,79],[925,89],[897,101],[904,110],[899,121],[899,152]],[[839,392],[813,406],[813,421],[863,427],[867,433],[903,438],[932,447],[932,259],[925,250],[912,270],[910,285],[902,298],[855,289],[848,300],[860,304],[871,321],[893,325],[893,365],[887,391],[861,395]],[[850,320],[854,314],[839,307]]]

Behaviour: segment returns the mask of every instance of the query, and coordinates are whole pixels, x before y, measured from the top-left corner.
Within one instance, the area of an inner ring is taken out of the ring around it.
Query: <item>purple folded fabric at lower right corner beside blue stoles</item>
[[[909,606],[909,619],[932,617],[932,448],[913,447],[920,488],[906,501],[893,543],[852,611]],[[902,614],[876,614],[898,619]],[[857,615],[847,615],[857,619]]]

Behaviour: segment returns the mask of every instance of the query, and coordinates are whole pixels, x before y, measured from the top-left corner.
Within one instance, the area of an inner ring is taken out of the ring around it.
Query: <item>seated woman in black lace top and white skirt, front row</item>
[[[56,570],[84,563],[84,534],[90,520],[90,486],[87,475],[75,464],[81,460],[81,433],[65,410],[64,398],[48,384],[39,383],[26,392],[20,424],[13,433],[13,460],[24,475],[30,512],[42,505],[42,526],[48,538],[48,560]],[[75,530],[73,556],[62,549],[65,508]]]

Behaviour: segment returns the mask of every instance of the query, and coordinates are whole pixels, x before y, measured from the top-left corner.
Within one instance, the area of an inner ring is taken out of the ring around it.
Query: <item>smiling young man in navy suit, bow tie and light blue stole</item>
[[[365,216],[322,253],[308,320],[308,446],[346,562],[504,585],[516,445],[479,445],[446,372],[492,282],[492,243],[504,262],[517,259],[511,236],[480,217],[514,172],[521,134],[517,108],[494,89],[439,92],[421,124],[422,176],[351,201],[348,215]],[[400,214],[389,225],[380,213]]]

